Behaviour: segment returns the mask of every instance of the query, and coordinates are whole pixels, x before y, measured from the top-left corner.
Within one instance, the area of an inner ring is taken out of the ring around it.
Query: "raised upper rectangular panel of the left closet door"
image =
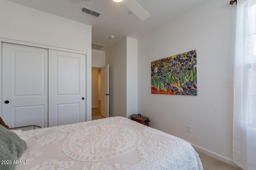
[[[44,54],[14,51],[14,96],[44,96]]]

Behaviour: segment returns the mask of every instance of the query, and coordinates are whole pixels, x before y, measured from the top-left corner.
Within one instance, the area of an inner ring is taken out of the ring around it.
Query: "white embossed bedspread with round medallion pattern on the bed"
[[[16,170],[202,170],[192,146],[124,117],[23,131]],[[22,162],[22,161],[20,161]]]

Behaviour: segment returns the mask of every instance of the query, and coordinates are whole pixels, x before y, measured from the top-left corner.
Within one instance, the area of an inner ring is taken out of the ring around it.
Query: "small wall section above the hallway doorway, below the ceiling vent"
[[[92,49],[92,67],[105,66],[105,51]]]

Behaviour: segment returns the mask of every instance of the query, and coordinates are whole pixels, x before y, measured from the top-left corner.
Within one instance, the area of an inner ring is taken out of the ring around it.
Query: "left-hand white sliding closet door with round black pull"
[[[48,49],[2,43],[2,111],[9,127],[48,127]]]

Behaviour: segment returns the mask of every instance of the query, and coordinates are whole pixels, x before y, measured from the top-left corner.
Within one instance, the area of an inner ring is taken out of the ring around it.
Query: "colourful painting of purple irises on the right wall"
[[[197,95],[196,50],[151,62],[151,93]]]

